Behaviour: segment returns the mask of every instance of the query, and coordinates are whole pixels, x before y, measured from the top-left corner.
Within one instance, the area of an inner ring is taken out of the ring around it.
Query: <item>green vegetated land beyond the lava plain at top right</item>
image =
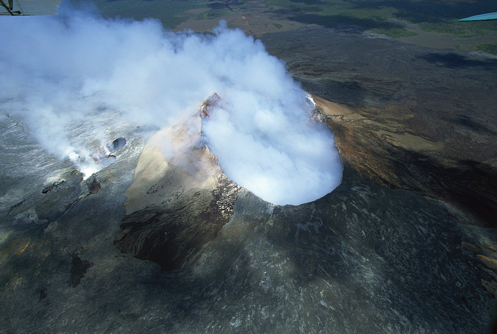
[[[495,0],[473,1],[422,0],[265,0],[268,5],[288,7],[296,14],[289,19],[324,26],[353,24],[373,33],[391,37],[412,36],[401,22],[419,25],[421,30],[484,36],[497,31],[497,21],[459,22],[472,13],[495,11]]]

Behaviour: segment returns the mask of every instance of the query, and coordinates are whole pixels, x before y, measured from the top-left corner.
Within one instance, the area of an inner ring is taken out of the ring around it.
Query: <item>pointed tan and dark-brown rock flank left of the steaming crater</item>
[[[143,150],[125,193],[126,217],[114,241],[119,250],[164,270],[179,269],[194,262],[230,221],[240,187],[226,178],[216,156],[201,143],[201,116],[208,115],[216,96],[184,124],[159,131]]]

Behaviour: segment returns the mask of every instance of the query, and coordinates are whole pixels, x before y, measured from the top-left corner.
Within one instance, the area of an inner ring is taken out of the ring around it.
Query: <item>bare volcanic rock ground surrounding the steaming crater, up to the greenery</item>
[[[307,90],[335,96],[314,99],[342,183],[312,203],[267,203],[223,176],[200,117],[151,140],[121,129],[116,161],[83,181],[3,117],[1,333],[489,330],[495,62],[350,32],[266,37]]]

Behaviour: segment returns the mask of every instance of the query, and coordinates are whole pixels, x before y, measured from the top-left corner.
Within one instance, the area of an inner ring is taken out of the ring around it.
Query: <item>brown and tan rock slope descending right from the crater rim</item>
[[[497,227],[495,162],[465,159],[452,141],[413,134],[405,125],[412,117],[409,101],[376,109],[313,98],[333,130],[343,163],[362,177],[424,192],[469,215],[466,222]],[[458,210],[447,209],[462,219]]]

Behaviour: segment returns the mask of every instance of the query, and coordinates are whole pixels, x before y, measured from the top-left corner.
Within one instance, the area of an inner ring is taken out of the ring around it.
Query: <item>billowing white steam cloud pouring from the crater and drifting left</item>
[[[160,128],[195,115],[226,175],[275,204],[301,204],[333,190],[341,163],[313,104],[262,43],[225,23],[213,34],[172,33],[159,21],[0,17],[0,102],[24,117],[41,145],[86,176],[101,168],[113,110]],[[99,152],[96,152],[99,151]],[[181,154],[181,153],[178,153]],[[97,166],[98,165],[98,166]]]

